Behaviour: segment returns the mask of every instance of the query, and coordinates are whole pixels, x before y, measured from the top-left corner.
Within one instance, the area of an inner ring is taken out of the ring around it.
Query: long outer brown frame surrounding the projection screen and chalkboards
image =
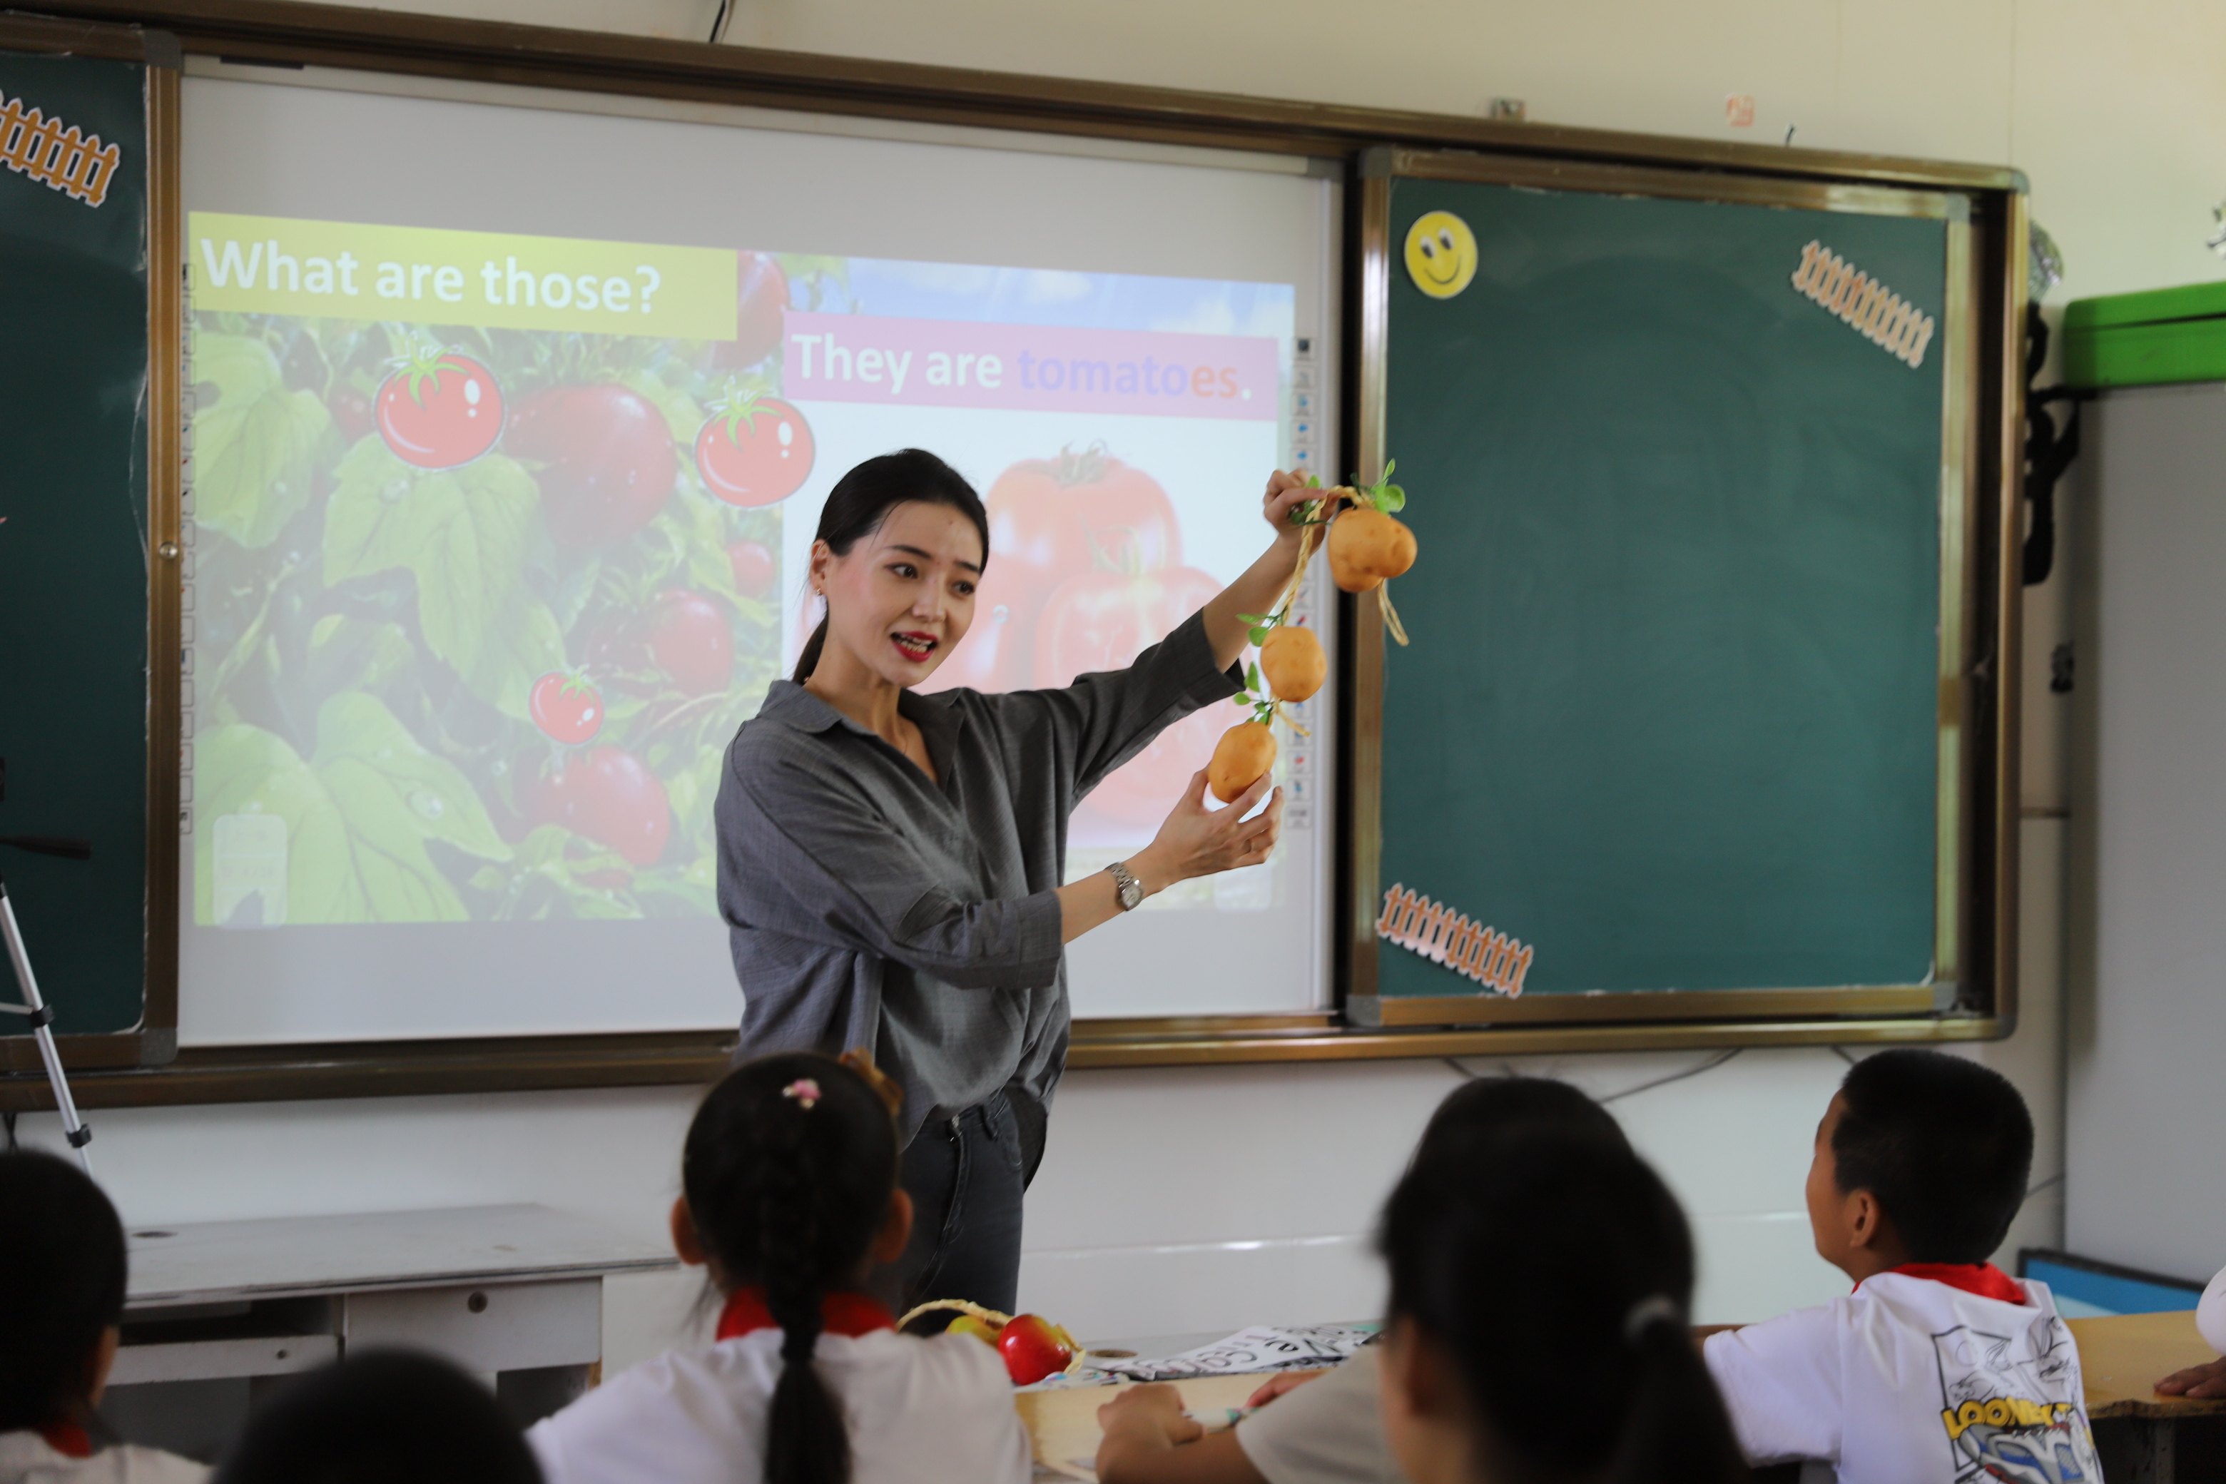
[[[1963,1015],[1912,1015],[1899,1006],[1843,1006],[1821,1012],[1812,999],[1772,1003],[1743,999],[1721,1006],[1721,1019],[1656,1023],[1498,1023],[1485,1028],[1369,1028],[1345,1015],[1347,992],[1360,988],[1351,932],[1351,872],[1360,845],[1356,817],[1340,837],[1338,954],[1340,1001],[1336,1008],[1296,1015],[1151,1017],[1077,1021],[1068,1066],[1202,1066],[1233,1061],[1349,1061],[1376,1057],[1523,1055],[1538,1050],[1621,1050],[1698,1046],[1819,1046],[1905,1039],[1986,1039],[2008,1035],[2015,1012],[2015,587],[1999,592],[1997,574],[2010,550],[2015,478],[2021,418],[2017,378],[2023,305],[2023,191],[2019,171],[1988,165],[1954,165],[1892,156],[1781,149],[1694,138],[1569,129],[1507,120],[1458,118],[1400,109],[1362,109],[1307,100],[1242,98],[1162,87],[1031,78],[957,67],[922,67],[861,58],[808,56],[752,47],[726,47],[659,38],[608,36],[556,27],[454,20],[289,0],[45,0],[47,13],[80,22],[160,27],[174,33],[187,56],[269,67],[341,67],[423,78],[503,82],[519,87],[572,89],[614,96],[648,96],[686,102],[770,107],[806,113],[910,120],[986,129],[1024,129],[1133,142],[1193,145],[1260,154],[1313,156],[1347,174],[1349,234],[1342,283],[1347,298],[1342,416],[1345,447],[1362,447],[1353,432],[1367,429],[1369,387],[1376,392],[1380,427],[1382,356],[1369,354],[1362,332],[1369,314],[1380,323],[1382,240],[1369,240],[1367,180],[1362,158],[1382,145],[1411,151],[1474,149],[1496,160],[1527,160],[1536,169],[1572,171],[1654,169],[1681,178],[1707,178],[1718,189],[1750,189],[1790,182],[1821,194],[1868,189],[1961,191],[1972,202],[1968,238],[1966,314],[1972,329],[1963,376],[1970,383],[1972,478],[1977,492],[1972,550],[1983,581],[1966,598],[1966,623],[1974,636],[1999,645],[1988,683],[1970,685],[1968,736],[1972,739],[1974,801],[1970,857],[1963,872],[1959,921],[1968,926],[1972,970],[1966,983],[1986,983],[1986,1006]],[[51,33],[87,36],[85,24],[7,22],[51,27]],[[129,38],[129,31],[111,36]],[[36,44],[24,38],[9,44]],[[51,47],[49,47],[51,49]],[[158,209],[171,214],[158,243],[176,243],[176,73],[167,73],[167,102],[151,109],[165,122],[167,162],[156,189]],[[1373,254],[1373,256],[1371,256]],[[1378,287],[1371,287],[1378,285]],[[158,374],[169,376],[167,416],[156,429],[176,438],[178,367],[178,274],[156,280]],[[1373,294],[1373,309],[1371,296]],[[167,338],[165,338],[167,336]],[[165,476],[154,492],[160,530],[176,541],[174,445],[156,449],[151,467]],[[167,505],[162,503],[167,498]],[[2015,563],[2012,567],[2015,570]],[[167,607],[165,607],[167,603]],[[178,583],[154,585],[151,614],[160,632],[149,690],[149,819],[162,839],[149,848],[149,1030],[176,1023],[176,716],[178,716]],[[1373,632],[1347,607],[1347,643],[1362,654],[1365,676],[1376,661]],[[167,647],[165,647],[167,645]],[[167,663],[165,663],[167,659]],[[1353,674],[1347,674],[1349,694]],[[1340,783],[1347,799],[1356,781],[1373,776],[1380,730],[1362,721],[1362,708],[1347,714]],[[162,730],[167,728],[167,732]],[[1358,756],[1353,756],[1358,754]],[[160,761],[162,765],[154,765]],[[1698,1008],[1698,1001],[1692,1001]],[[174,1035],[174,1032],[171,1032]],[[381,1041],[343,1046],[252,1046],[185,1048],[167,1066],[147,1066],[145,1046],[73,1046],[69,1061],[85,1106],[214,1104],[298,1097],[372,1097],[487,1092],[574,1086],[697,1084],[719,1075],[735,1032],[654,1032],[601,1037],[512,1037],[454,1041]],[[105,1039],[107,1041],[107,1039]],[[116,1039],[120,1041],[120,1039]],[[98,1061],[98,1063],[96,1063]],[[0,1075],[0,1108],[40,1108],[45,1081],[33,1075]]]

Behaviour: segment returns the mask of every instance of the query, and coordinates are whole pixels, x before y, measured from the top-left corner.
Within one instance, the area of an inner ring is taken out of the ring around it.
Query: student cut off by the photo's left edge
[[[102,1446],[93,1408],[125,1317],[125,1226],[85,1170],[0,1152],[0,1484],[198,1484],[174,1453]]]

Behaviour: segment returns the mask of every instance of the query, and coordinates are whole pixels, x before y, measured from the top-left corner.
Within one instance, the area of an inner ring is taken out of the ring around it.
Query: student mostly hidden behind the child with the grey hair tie
[[[1458,1157],[1529,1128],[1560,1128],[1629,1150],[1607,1108],[1565,1081],[1478,1077],[1429,1117],[1414,1161]],[[1133,1386],[1097,1411],[1102,1484],[1402,1484],[1382,1431],[1369,1346],[1327,1373],[1278,1375],[1233,1428],[1204,1433],[1169,1384]],[[1320,1377],[1320,1379],[1311,1379]],[[1267,1402],[1275,1402],[1267,1406]]]

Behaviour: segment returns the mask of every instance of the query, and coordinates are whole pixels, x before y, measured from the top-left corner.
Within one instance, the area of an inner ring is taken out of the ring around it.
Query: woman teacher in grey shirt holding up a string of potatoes
[[[1060,886],[1075,801],[1242,687],[1240,614],[1267,612],[1291,578],[1304,498],[1296,476],[1269,478],[1267,552],[1126,670],[922,696],[993,561],[982,498],[919,449],[868,458],[828,494],[810,558],[826,616],[726,754],[719,912],[741,1057],[868,1048],[904,1088],[915,1219],[890,1297],[1013,1310],[1022,1190],[1066,1068],[1064,946],[1275,848],[1282,790],[1260,779],[1206,810],[1200,770],[1151,845]]]

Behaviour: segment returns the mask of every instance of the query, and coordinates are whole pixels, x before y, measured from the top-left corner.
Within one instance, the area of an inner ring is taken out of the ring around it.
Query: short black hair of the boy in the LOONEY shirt
[[[2032,1115],[2001,1072],[1912,1046],[1839,1084],[1841,1195],[1870,1190],[1912,1262],[1986,1262],[2026,1204]]]

